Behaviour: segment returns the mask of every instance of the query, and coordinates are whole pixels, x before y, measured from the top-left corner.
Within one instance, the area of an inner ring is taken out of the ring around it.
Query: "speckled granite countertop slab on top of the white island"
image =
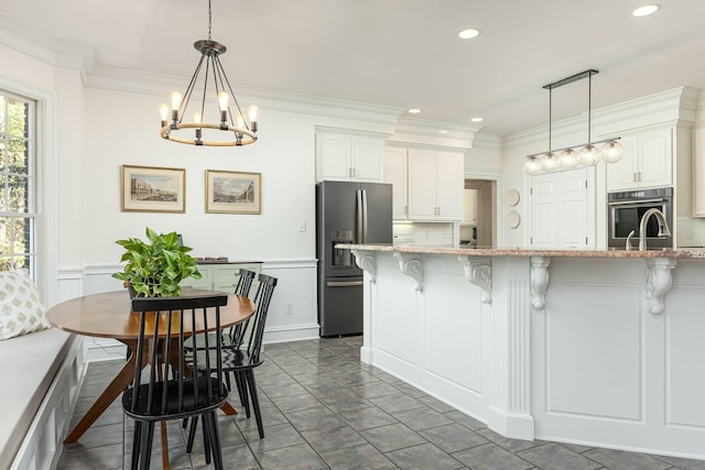
[[[463,248],[392,244],[338,244],[338,248],[389,251],[397,253],[455,254],[464,256],[549,256],[549,258],[692,258],[705,259],[705,248],[652,249],[646,251],[615,249],[538,250],[533,248]]]

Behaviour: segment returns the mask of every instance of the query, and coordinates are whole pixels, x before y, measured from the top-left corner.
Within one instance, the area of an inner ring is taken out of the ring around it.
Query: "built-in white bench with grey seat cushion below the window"
[[[50,328],[0,341],[0,469],[48,469],[84,374],[82,341]]]

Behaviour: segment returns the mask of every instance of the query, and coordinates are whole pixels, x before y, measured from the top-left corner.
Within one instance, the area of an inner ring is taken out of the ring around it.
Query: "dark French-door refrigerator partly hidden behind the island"
[[[316,258],[321,336],[362,332],[362,270],[338,243],[392,242],[392,185],[316,185]]]

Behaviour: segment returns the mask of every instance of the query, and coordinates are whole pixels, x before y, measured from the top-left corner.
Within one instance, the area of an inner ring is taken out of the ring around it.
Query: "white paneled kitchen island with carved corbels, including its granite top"
[[[506,437],[705,459],[702,252],[341,248],[364,362]]]

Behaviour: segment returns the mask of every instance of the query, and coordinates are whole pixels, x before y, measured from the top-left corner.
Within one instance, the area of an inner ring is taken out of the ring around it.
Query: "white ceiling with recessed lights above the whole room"
[[[542,87],[596,68],[593,109],[680,86],[705,89],[705,0],[213,0],[213,39],[237,86],[422,109],[508,133],[545,123]],[[98,64],[183,76],[207,39],[206,0],[0,0]],[[467,28],[479,37],[462,41]],[[587,110],[587,80],[553,90],[553,119]]]

